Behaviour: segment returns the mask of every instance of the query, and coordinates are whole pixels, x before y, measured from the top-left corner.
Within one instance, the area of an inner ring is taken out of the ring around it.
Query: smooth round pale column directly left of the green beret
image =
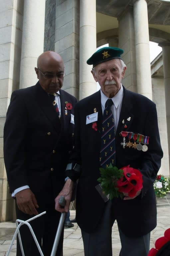
[[[96,1],[80,0],[80,99],[96,92],[87,59],[96,51]]]

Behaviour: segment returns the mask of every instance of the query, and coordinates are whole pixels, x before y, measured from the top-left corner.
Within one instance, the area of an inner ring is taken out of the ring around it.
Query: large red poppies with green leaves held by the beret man
[[[114,197],[123,198],[123,193],[134,197],[142,189],[142,174],[138,169],[125,166],[118,169],[110,163],[108,167],[99,168],[101,177],[97,179],[105,195],[111,200]]]

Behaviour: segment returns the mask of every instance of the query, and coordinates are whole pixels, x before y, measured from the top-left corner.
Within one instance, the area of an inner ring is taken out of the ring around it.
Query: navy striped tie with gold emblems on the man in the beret
[[[111,112],[112,99],[108,99],[105,103],[103,112],[102,132],[101,132],[101,150],[100,150],[100,166],[105,168],[111,163],[115,166],[115,133],[114,119]]]

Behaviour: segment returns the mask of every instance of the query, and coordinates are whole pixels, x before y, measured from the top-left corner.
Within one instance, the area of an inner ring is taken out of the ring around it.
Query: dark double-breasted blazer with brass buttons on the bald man
[[[60,90],[61,120],[40,83],[14,91],[4,126],[4,161],[10,192],[29,185],[39,206],[53,202],[65,182],[73,149],[76,98]],[[73,108],[65,115],[66,103]]]

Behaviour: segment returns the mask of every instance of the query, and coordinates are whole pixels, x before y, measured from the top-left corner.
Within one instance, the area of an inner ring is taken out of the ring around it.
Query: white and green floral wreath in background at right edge
[[[170,191],[170,178],[165,178],[162,174],[157,175],[153,187],[157,198],[166,196]]]

